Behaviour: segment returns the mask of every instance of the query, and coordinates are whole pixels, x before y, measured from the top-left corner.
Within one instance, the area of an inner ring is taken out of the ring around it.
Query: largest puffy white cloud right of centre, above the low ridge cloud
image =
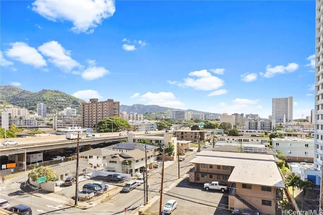
[[[216,90],[224,85],[224,81],[218,77],[212,76],[206,69],[200,71],[193,71],[189,76],[196,76],[194,78],[185,78],[183,83],[179,83],[180,87],[191,87],[195,90]]]

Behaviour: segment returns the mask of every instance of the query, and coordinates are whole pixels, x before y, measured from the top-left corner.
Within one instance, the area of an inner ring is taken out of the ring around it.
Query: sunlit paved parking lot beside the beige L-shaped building
[[[178,207],[172,214],[217,214],[229,215],[228,193],[221,191],[206,191],[201,183],[192,183],[184,179],[171,190],[163,192],[162,207],[165,203],[175,199]],[[159,200],[155,201],[146,212],[157,215],[159,213]]]

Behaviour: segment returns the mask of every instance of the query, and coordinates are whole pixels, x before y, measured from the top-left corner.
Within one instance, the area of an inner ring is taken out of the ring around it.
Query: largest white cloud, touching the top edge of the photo
[[[92,33],[104,19],[112,17],[116,11],[113,0],[68,0],[32,3],[32,10],[50,21],[70,21],[75,33]]]

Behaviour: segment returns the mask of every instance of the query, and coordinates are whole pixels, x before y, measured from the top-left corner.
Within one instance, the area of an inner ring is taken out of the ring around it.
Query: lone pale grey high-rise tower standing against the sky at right
[[[273,99],[273,116],[275,122],[292,122],[293,121],[293,97],[274,98]]]

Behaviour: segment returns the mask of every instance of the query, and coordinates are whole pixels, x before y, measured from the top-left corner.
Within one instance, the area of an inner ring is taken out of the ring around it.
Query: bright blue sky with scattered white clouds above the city
[[[315,1],[0,1],[1,85],[88,101],[314,108]]]

